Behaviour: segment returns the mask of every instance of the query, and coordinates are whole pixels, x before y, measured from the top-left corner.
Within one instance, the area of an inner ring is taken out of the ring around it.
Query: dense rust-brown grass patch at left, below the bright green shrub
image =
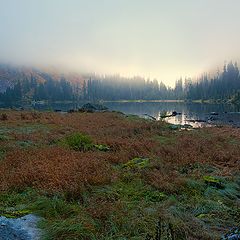
[[[34,187],[74,194],[110,182],[111,167],[102,153],[51,147],[13,151],[1,162],[0,175],[1,190]]]

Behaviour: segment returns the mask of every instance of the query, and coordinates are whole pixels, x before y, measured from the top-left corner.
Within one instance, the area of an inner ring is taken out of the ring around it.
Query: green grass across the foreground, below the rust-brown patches
[[[119,181],[92,188],[81,196],[81,201],[80,196],[79,200],[67,201],[61,195],[48,196],[29,189],[22,193],[1,194],[0,211],[6,217],[19,217],[29,212],[42,216],[44,221],[40,226],[45,230],[45,239],[145,239],[147,233],[152,236],[149,239],[154,239],[157,232],[155,225],[161,214],[159,208],[167,214],[166,218],[161,215],[166,220],[166,224],[162,225],[162,237],[170,236],[171,223],[175,239],[186,239],[186,229],[198,238],[211,236],[215,239],[214,233],[206,231],[206,224],[224,226],[239,221],[236,205],[239,186],[234,179],[224,180],[225,189],[189,179],[183,192],[169,198],[146,184],[134,172],[122,168],[118,171],[121,171]],[[131,175],[127,181],[123,177],[126,174]],[[107,214],[104,226],[108,231],[104,235],[100,234],[103,223],[90,217],[86,211],[93,199],[100,199],[100,204],[101,201],[118,203],[125,209],[117,208]]]

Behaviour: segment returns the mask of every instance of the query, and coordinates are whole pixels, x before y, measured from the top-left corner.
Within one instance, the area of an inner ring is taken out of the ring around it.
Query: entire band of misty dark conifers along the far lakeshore
[[[22,77],[22,76],[21,76]],[[55,80],[45,74],[44,81],[28,76],[15,81],[0,93],[1,102],[22,100],[49,101],[116,101],[116,100],[214,100],[239,101],[240,76],[237,63],[229,62],[213,76],[203,74],[199,79],[180,78],[175,87],[156,79],[142,77],[88,76],[73,83],[61,77]]]

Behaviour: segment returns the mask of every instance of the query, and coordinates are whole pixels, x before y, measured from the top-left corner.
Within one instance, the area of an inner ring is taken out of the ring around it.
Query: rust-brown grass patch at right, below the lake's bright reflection
[[[221,176],[239,172],[238,141],[240,131],[233,128],[199,129],[178,134],[174,144],[159,146],[156,155],[161,161],[155,161],[146,179],[158,189],[177,192],[185,185],[181,170],[194,177],[207,174],[208,166],[215,167],[214,174]]]

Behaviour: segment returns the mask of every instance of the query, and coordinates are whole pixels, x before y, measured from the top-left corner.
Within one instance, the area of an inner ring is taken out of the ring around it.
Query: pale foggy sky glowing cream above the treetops
[[[0,0],[0,60],[172,85],[240,56],[240,0]]]

